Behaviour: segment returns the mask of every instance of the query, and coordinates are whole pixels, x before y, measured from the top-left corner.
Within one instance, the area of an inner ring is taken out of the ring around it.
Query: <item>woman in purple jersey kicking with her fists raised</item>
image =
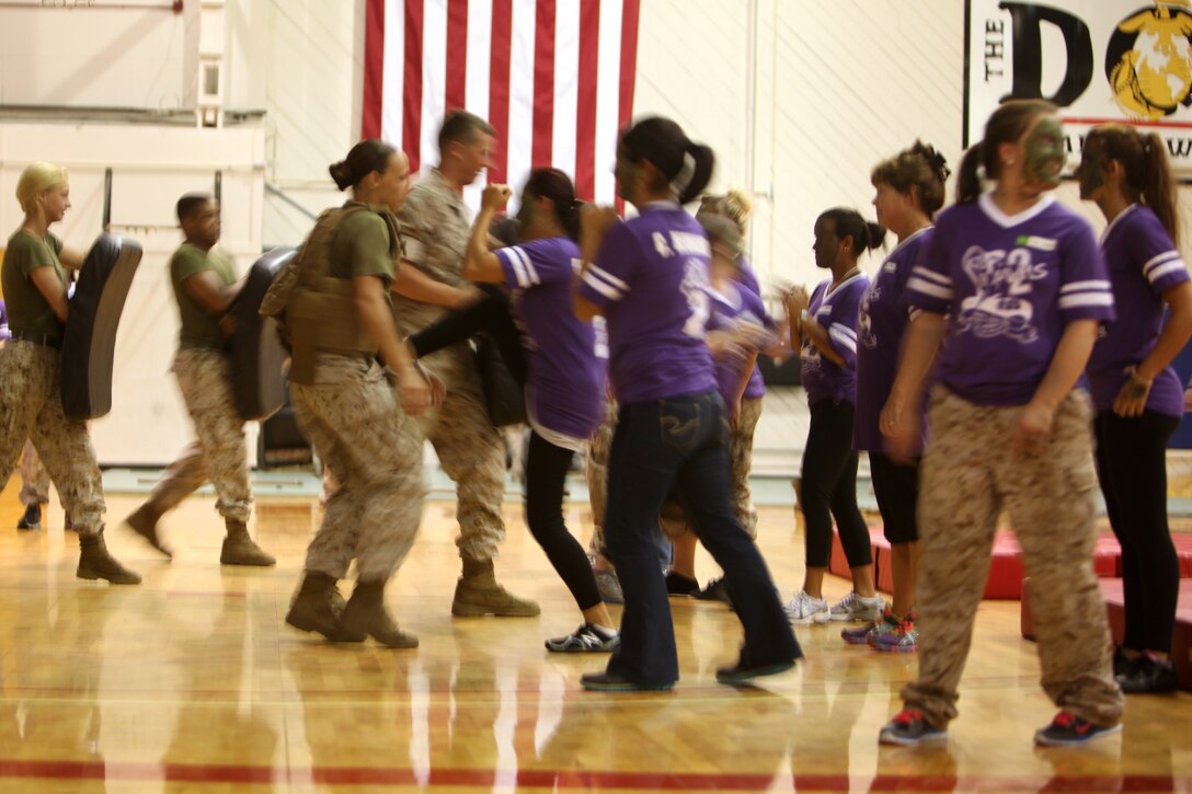
[[[582,322],[571,310],[571,283],[579,259],[579,201],[566,174],[535,168],[517,211],[521,243],[490,250],[492,218],[509,196],[505,185],[484,188],[462,275],[507,286],[522,329],[526,409],[532,428],[526,457],[526,523],[584,618],[573,633],[546,640],[546,647],[557,652],[611,651],[619,641],[616,628],[596,589],[588,556],[563,517],[567,470],[601,422],[607,376],[592,323]]]

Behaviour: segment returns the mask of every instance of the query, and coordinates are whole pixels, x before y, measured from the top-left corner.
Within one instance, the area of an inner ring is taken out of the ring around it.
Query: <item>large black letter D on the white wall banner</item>
[[[1010,12],[1013,19],[1013,87],[1007,99],[1045,99],[1060,107],[1072,105],[1093,81],[1093,39],[1088,25],[1081,19],[1058,8],[1036,6],[1029,2],[1000,2],[998,7]],[[1050,23],[1063,33],[1068,54],[1068,66],[1058,91],[1051,97],[1043,95],[1043,37],[1039,27]]]

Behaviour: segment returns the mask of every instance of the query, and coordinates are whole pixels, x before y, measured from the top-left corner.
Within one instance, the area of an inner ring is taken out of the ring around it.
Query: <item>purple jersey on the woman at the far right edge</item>
[[[1163,324],[1163,292],[1187,281],[1188,271],[1149,206],[1131,204],[1113,218],[1101,236],[1101,250],[1118,318],[1093,348],[1088,385],[1097,410],[1107,411],[1129,377],[1126,367],[1142,364],[1155,349]],[[1173,367],[1155,377],[1147,408],[1167,416],[1184,415],[1184,387]]]

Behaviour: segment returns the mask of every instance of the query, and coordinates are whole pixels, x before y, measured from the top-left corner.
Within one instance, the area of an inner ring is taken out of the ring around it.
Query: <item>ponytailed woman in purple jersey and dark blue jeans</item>
[[[581,218],[575,310],[608,325],[613,390],[620,403],[608,464],[604,535],[625,595],[621,645],[588,689],[670,689],[678,656],[653,538],[672,486],[695,533],[724,567],[745,644],[716,680],[735,684],[781,672],[802,656],[774,582],[728,492],[728,424],[704,341],[709,316],[708,238],[683,210],[712,176],[714,156],[678,124],[647,118],[617,145],[617,193],[640,215],[611,209]]]

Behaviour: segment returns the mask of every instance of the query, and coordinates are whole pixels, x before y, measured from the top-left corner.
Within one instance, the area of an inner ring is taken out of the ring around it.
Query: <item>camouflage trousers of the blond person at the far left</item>
[[[104,483],[87,423],[62,412],[61,355],[19,340],[0,348],[0,488],[32,441],[80,535],[104,528]]]

